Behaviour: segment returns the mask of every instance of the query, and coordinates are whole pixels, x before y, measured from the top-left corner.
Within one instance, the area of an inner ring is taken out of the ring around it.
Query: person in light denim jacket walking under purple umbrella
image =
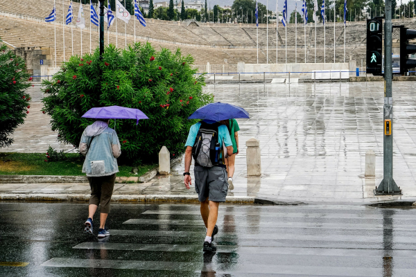
[[[101,204],[100,228],[98,238],[105,238],[110,232],[105,227],[110,201],[119,172],[117,158],[121,155],[119,137],[114,129],[108,127],[108,118],[148,119],[139,109],[111,106],[92,108],[83,118],[96,118],[87,126],[80,141],[80,153],[85,156],[83,172],[87,174],[91,197],[89,198],[88,219],[85,222],[84,233],[92,234],[93,218],[98,205]],[[114,124],[115,125],[115,124]]]

